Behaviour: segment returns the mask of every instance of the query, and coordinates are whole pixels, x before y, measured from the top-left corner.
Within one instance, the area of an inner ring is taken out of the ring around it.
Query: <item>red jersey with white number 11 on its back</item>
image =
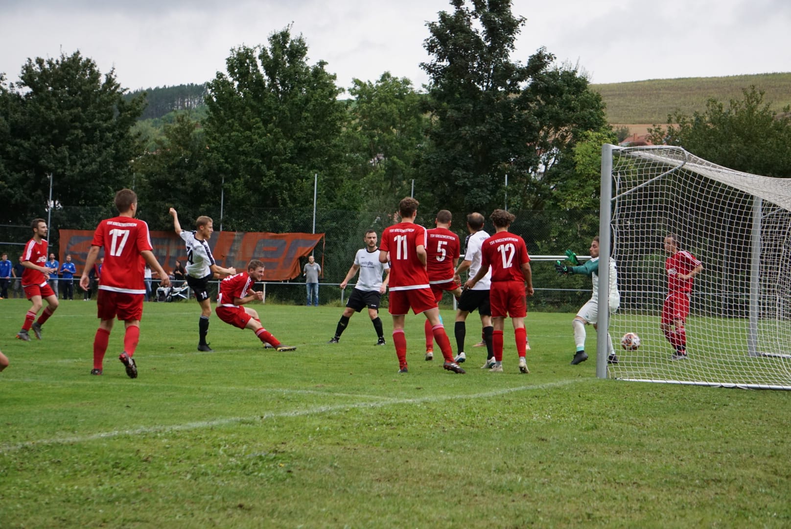
[[[398,223],[382,231],[380,250],[390,252],[390,291],[430,288],[418,245],[426,246],[428,230],[415,223]]]

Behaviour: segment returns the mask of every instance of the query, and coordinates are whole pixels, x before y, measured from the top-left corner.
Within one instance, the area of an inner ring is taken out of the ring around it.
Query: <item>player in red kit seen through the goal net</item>
[[[668,272],[668,297],[662,305],[661,328],[664,337],[676,348],[671,360],[687,358],[687,330],[684,324],[690,314],[690,295],[692,280],[703,270],[700,261],[687,252],[679,249],[679,236],[668,234],[664,238],[664,251],[670,257],[664,261],[664,269]]]

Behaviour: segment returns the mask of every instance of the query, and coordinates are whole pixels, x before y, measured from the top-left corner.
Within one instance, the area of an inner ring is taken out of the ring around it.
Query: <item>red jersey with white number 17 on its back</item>
[[[127,294],[145,294],[145,261],[140,253],[152,249],[148,224],[131,217],[104,219],[93,232],[93,246],[104,248],[99,288]]]

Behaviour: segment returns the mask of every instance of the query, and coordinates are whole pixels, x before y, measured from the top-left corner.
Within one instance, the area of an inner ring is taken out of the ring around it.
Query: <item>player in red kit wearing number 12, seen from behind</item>
[[[481,247],[481,268],[475,277],[464,284],[464,288],[472,288],[486,275],[491,266],[492,280],[489,300],[492,311],[494,333],[494,367],[490,371],[502,372],[502,344],[505,317],[510,316],[513,323],[513,334],[517,341],[520,373],[529,373],[528,363],[524,355],[527,350],[524,330],[524,317],[527,316],[527,303],[524,295],[533,295],[532,271],[530,256],[524,239],[509,233],[508,228],[515,219],[508,211],[496,209],[490,216],[495,232],[483,242]],[[525,283],[527,287],[525,287]]]

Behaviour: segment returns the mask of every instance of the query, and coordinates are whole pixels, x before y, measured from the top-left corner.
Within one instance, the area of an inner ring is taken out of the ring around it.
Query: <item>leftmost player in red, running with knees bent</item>
[[[25,323],[17,333],[17,338],[24,341],[30,340],[28,331],[32,328],[36,338],[41,340],[41,325],[44,325],[49,317],[58,308],[58,295],[47,283],[50,274],[57,274],[57,268],[47,268],[47,221],[44,219],[33,219],[30,227],[33,230],[33,238],[25,244],[22,251],[21,263],[25,267],[22,272],[22,289],[25,297],[30,300],[32,306],[25,314]],[[36,320],[36,314],[44,305],[42,299],[47,302],[47,308]]]

